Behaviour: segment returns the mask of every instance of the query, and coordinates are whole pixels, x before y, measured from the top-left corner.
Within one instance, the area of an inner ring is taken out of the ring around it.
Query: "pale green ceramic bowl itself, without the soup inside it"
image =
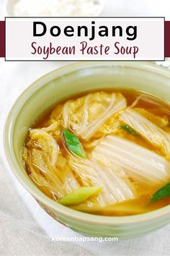
[[[57,69],[34,82],[17,99],[6,120],[6,157],[19,182],[53,218],[87,236],[143,236],[170,222],[170,205],[127,217],[94,216],[54,202],[31,182],[20,150],[28,128],[55,103],[76,93],[100,88],[130,88],[151,93],[169,103],[170,72],[145,62],[81,62]]]

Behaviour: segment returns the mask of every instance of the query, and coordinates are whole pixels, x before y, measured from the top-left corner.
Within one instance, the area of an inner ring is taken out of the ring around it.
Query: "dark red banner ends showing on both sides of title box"
[[[0,21],[0,57],[5,56],[5,22]],[[170,58],[170,21],[165,22],[165,57]]]

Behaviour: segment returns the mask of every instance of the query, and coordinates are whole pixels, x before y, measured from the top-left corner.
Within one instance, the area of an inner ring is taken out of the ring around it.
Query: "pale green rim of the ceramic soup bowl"
[[[50,209],[55,210],[57,215],[63,215],[65,218],[76,219],[79,221],[85,221],[86,223],[99,223],[100,225],[110,224],[114,226],[118,226],[120,224],[132,224],[144,221],[151,221],[156,218],[166,217],[170,215],[170,205],[166,205],[164,208],[160,208],[158,210],[153,210],[148,213],[141,213],[133,216],[97,216],[91,213],[83,213],[78,210],[73,210],[64,205],[59,204],[58,202],[53,201],[45,194],[43,194],[40,189],[38,189],[35,184],[31,182],[29,177],[24,176],[21,168],[19,167],[19,163],[14,155],[12,138],[12,131],[14,129],[14,124],[19,115],[19,109],[24,106],[26,101],[29,101],[30,96],[35,93],[35,91],[39,90],[43,85],[47,82],[53,80],[53,78],[61,77],[63,74],[68,74],[69,72],[79,71],[80,69],[90,68],[90,67],[130,67],[135,69],[145,69],[148,72],[153,72],[164,76],[170,80],[170,71],[164,67],[159,67],[156,64],[148,63],[144,61],[132,62],[132,61],[85,61],[85,62],[76,62],[73,64],[67,64],[58,69],[54,69],[51,72],[48,72],[44,76],[35,80],[24,92],[19,95],[14,105],[12,106],[9,114],[6,118],[6,123],[4,125],[4,150],[7,162],[9,163],[9,167],[12,169],[14,176],[17,177],[18,181],[22,184],[22,186],[27,189],[30,194],[35,197],[36,200],[42,202],[47,205]],[[19,171],[18,171],[19,170]],[[94,217],[95,216],[95,217]]]

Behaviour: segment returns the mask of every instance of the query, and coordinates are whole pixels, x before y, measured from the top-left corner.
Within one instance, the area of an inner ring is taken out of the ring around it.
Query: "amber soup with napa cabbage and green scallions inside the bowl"
[[[62,205],[128,216],[170,203],[170,107],[133,90],[58,104],[27,135],[32,182]]]

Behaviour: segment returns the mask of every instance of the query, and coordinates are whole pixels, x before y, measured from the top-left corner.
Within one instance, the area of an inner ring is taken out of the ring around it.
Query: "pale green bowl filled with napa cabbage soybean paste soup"
[[[4,129],[15,176],[86,236],[143,236],[170,217],[170,72],[81,62],[30,85]]]

